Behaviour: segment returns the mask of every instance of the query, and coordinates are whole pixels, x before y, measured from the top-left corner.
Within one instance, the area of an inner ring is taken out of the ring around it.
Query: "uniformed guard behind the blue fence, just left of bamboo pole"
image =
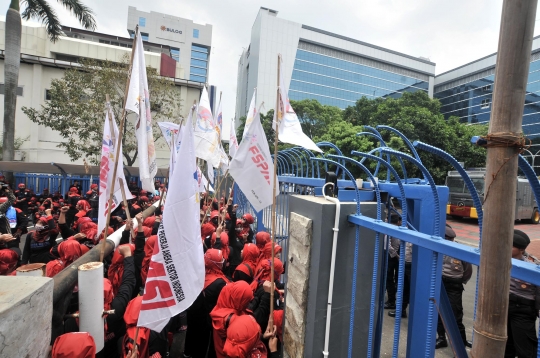
[[[454,241],[456,233],[450,227],[446,225],[446,230],[444,232],[444,238],[449,241]],[[443,257],[443,276],[442,283],[446,294],[448,295],[448,300],[450,301],[450,306],[452,307],[452,312],[456,318],[456,323],[461,334],[461,339],[465,347],[472,347],[472,343],[467,340],[467,335],[465,333],[465,326],[463,325],[463,285],[466,284],[472,275],[472,265],[468,262],[457,260],[453,257],[444,255]],[[435,343],[435,349],[448,347],[448,342],[446,341],[446,331],[442,323],[441,317],[437,321],[437,342]]]

